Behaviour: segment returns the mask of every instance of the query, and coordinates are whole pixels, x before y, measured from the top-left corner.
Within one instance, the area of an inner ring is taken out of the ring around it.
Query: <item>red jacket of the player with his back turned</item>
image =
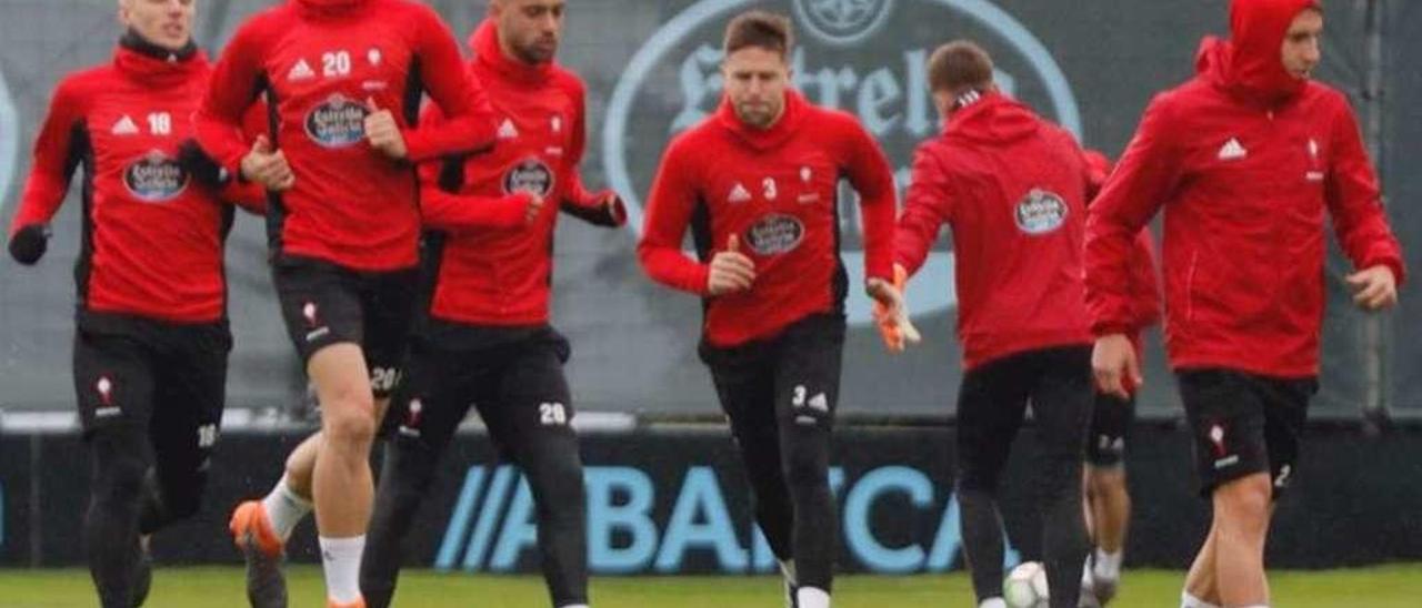
[[[1089,186],[1072,135],[1000,94],[919,146],[896,259],[912,274],[939,229],[953,230],[964,369],[1091,344],[1081,284]]]

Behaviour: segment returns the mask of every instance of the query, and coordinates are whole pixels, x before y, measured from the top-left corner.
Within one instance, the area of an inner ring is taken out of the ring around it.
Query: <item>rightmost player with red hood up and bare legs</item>
[[[1086,297],[1106,392],[1139,379],[1125,294],[1130,237],[1165,207],[1166,344],[1213,523],[1183,607],[1264,607],[1271,500],[1298,474],[1318,384],[1324,216],[1364,310],[1396,303],[1402,256],[1348,99],[1310,80],[1322,9],[1234,0],[1194,80],[1158,95],[1092,205]]]

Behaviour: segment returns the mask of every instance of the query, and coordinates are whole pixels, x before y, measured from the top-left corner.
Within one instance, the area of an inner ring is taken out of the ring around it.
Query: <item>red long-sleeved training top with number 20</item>
[[[354,270],[412,267],[417,178],[410,162],[488,146],[488,99],[464,70],[435,11],[410,0],[289,0],[245,23],[228,44],[196,116],[203,148],[237,172],[249,145],[232,125],[266,94],[272,141],[296,185],[273,195],[273,253]],[[417,126],[421,95],[449,116]],[[410,162],[365,141],[368,104],[388,108]]]

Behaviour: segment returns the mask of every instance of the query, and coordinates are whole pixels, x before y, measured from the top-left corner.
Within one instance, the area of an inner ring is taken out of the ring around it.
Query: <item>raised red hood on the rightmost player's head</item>
[[[1200,41],[1196,71],[1234,97],[1278,105],[1308,87],[1284,68],[1284,34],[1318,0],[1233,0],[1230,40],[1213,36]]]

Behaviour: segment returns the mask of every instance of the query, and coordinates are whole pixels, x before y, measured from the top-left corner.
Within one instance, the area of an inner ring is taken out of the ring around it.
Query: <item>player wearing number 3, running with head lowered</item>
[[[789,88],[789,20],[748,11],[725,28],[725,99],[667,148],[638,259],[700,295],[701,359],[741,450],[755,519],[789,601],[829,605],[836,550],[829,435],[849,284],[839,260],[840,176],[859,192],[866,291],[902,317],[892,284],[894,189],[852,116]],[[691,226],[698,260],[681,253]]]

